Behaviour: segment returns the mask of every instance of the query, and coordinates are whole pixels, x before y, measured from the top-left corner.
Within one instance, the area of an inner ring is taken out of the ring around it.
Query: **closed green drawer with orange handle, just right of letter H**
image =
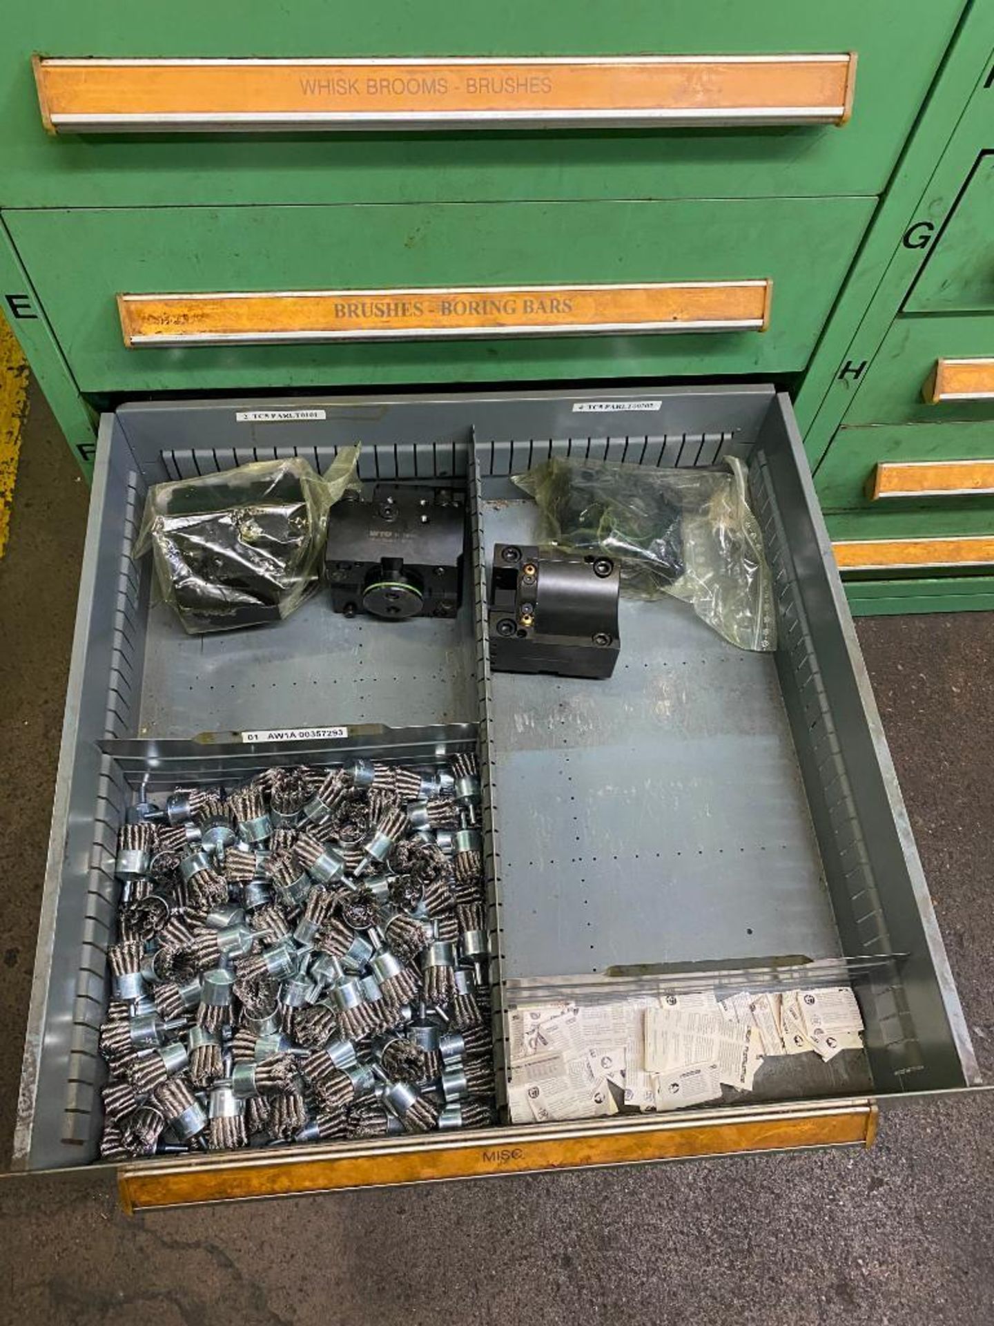
[[[994,314],[903,316],[864,373],[847,423],[994,420]]]

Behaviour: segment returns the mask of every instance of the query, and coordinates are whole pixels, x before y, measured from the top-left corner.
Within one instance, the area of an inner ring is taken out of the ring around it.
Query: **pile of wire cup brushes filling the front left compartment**
[[[115,874],[105,1159],[493,1122],[476,756],[143,798]]]

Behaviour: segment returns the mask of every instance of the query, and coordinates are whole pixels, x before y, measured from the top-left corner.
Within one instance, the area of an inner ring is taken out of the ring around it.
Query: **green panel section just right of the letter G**
[[[994,105],[990,141],[994,146]],[[994,310],[994,151],[977,160],[904,308],[909,313]]]

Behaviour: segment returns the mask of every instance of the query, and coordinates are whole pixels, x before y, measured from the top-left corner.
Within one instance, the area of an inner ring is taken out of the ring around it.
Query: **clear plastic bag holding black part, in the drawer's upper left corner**
[[[151,548],[163,599],[191,635],[276,622],[317,587],[327,513],[360,488],[358,447],[330,469],[260,460],[148,491],[134,556]]]

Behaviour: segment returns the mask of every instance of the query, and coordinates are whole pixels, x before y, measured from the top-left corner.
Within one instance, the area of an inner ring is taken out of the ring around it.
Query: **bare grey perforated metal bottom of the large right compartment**
[[[484,501],[488,548],[537,524]],[[836,955],[773,656],[676,599],[619,621],[607,682],[492,680],[508,977]]]

